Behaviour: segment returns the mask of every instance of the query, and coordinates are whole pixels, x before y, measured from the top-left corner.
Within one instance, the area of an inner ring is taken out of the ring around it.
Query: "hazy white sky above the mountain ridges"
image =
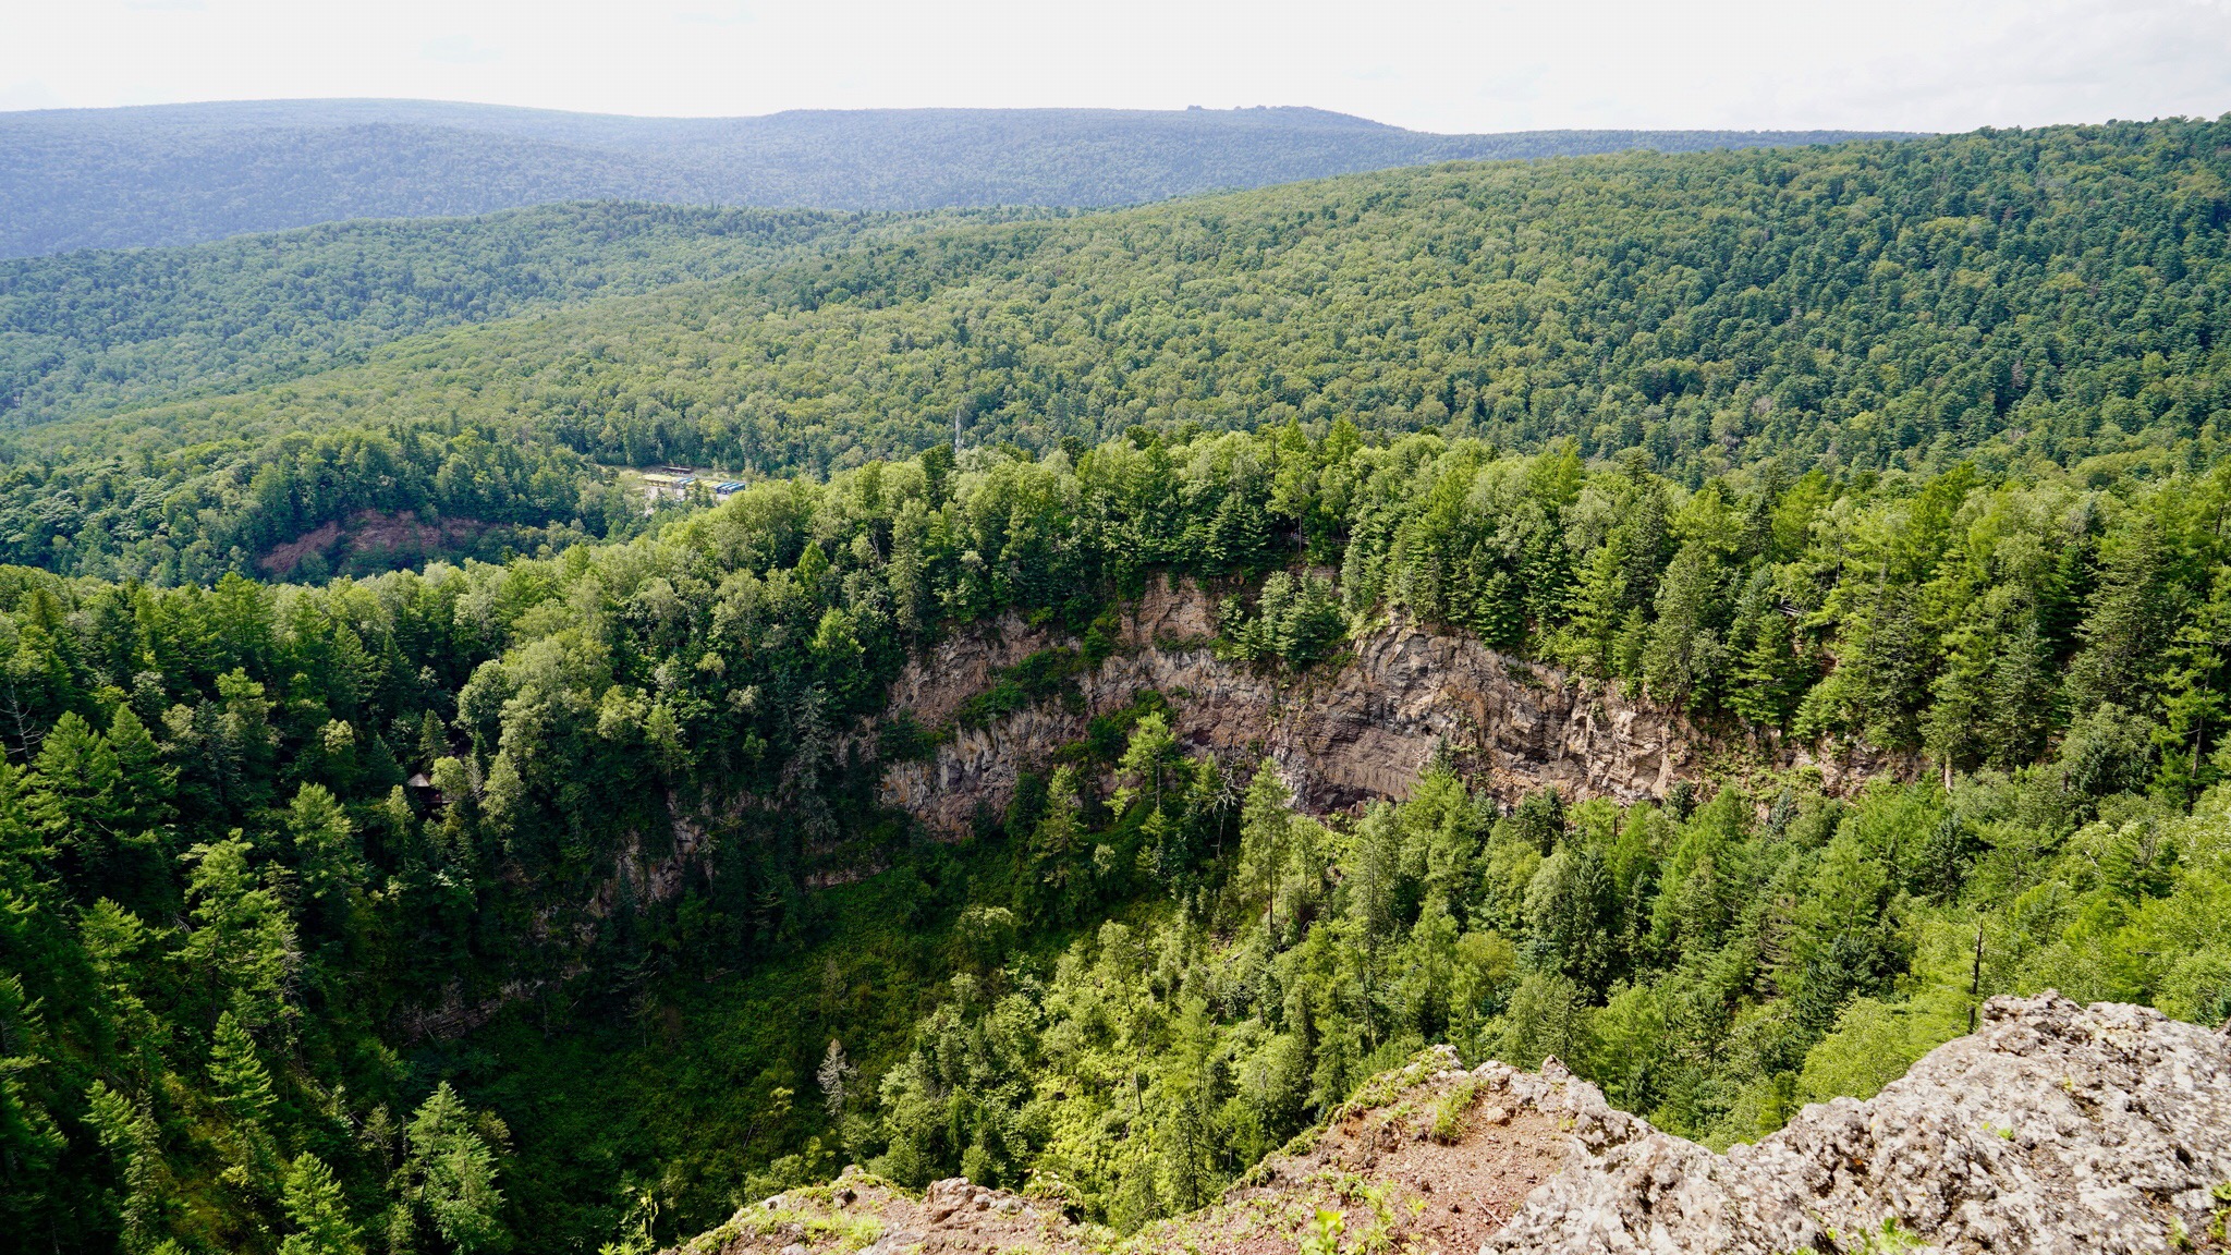
[[[2231,0],[0,0],[0,109],[1319,105],[1437,132],[2231,112]]]

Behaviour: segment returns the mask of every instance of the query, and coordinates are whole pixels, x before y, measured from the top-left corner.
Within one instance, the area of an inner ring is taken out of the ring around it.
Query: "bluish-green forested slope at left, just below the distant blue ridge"
[[[0,261],[0,424],[265,384],[442,326],[970,217],[995,219],[576,203]]]

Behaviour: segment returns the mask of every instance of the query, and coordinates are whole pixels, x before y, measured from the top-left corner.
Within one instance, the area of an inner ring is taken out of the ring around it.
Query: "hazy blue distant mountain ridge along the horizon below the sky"
[[[437,100],[0,114],[0,257],[580,199],[825,210],[1124,205],[1461,159],[1892,132],[1428,134],[1307,107],[634,118]]]

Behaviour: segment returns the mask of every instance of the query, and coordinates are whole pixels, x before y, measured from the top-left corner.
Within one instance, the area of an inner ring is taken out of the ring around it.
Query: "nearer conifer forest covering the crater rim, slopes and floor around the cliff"
[[[2202,435],[2119,476],[1689,489],[1571,444],[1142,431],[502,567],[18,569],[9,1224],[593,1246],[850,1157],[1035,1168],[1129,1228],[1437,1038],[1553,1050],[1725,1141],[1870,1092],[1983,994],[2222,1016],[2220,467]],[[1736,759],[1662,806],[1508,813],[1437,770],[1327,824],[1140,692],[975,842],[877,808],[877,766],[950,735],[859,735],[908,648],[1022,610],[1073,632],[1015,679],[1060,699],[1153,569],[1225,581],[1220,648],[1283,674],[1410,614],[1932,768],[1834,799]]]

